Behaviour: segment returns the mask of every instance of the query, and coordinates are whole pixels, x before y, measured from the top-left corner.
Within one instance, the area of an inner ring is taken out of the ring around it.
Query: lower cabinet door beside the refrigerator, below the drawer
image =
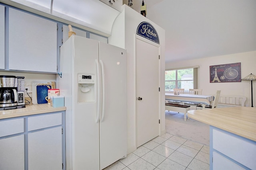
[[[28,170],[62,170],[62,127],[28,133]]]

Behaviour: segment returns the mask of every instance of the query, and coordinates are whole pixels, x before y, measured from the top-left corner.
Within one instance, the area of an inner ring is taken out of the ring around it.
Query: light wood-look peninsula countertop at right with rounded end
[[[188,117],[256,141],[256,107],[190,110]]]

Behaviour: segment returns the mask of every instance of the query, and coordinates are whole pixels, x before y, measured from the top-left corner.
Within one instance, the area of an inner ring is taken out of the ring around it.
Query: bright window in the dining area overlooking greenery
[[[197,68],[184,68],[165,71],[165,91],[173,92],[174,88],[197,88]]]

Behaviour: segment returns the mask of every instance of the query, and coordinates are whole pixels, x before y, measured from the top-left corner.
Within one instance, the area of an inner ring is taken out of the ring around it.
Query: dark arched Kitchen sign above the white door
[[[137,35],[159,44],[156,29],[148,22],[142,22],[137,28]]]

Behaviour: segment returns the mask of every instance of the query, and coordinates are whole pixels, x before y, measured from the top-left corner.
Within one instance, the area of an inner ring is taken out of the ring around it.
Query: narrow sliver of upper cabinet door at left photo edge
[[[4,6],[0,5],[0,69],[4,69]]]

